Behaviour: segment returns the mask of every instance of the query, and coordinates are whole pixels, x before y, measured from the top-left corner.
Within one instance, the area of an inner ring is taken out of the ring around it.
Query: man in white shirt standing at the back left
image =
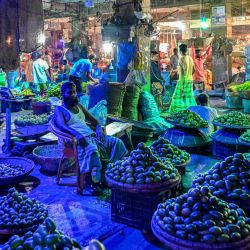
[[[34,77],[34,90],[36,93],[39,93],[42,86],[50,81],[49,65],[41,56],[41,53],[37,51],[33,52],[31,55],[33,60],[32,72]]]

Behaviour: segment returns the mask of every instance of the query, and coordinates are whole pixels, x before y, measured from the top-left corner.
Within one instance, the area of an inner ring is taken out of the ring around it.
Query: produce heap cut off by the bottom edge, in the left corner
[[[44,224],[40,225],[34,233],[27,232],[23,237],[14,235],[5,245],[3,245],[1,249],[69,250],[82,248],[76,240],[71,239],[70,237],[65,236],[62,232],[56,230],[54,221],[50,218],[47,218]]]

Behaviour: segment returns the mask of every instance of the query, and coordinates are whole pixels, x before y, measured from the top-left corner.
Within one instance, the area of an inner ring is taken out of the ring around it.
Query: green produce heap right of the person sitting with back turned
[[[250,126],[250,115],[243,114],[238,111],[232,111],[228,114],[218,116],[214,122],[229,126]]]

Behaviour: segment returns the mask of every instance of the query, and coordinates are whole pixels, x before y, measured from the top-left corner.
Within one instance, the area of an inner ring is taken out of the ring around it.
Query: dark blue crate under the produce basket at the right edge
[[[224,144],[213,141],[213,156],[216,159],[224,160],[235,153],[247,153],[249,148],[235,144]]]

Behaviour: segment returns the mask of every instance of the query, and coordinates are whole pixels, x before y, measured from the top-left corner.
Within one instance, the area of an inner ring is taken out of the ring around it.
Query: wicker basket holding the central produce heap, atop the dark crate
[[[177,187],[180,184],[181,177],[174,180],[169,180],[168,182],[163,183],[154,183],[154,184],[127,184],[114,181],[105,175],[108,185],[112,188],[118,188],[130,193],[157,193],[165,190],[171,190],[172,188]]]

